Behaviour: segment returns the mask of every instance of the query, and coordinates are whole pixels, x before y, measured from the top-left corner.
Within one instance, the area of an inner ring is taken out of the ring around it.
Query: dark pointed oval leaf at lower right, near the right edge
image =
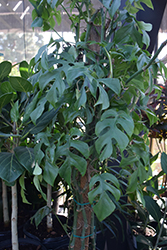
[[[144,196],[146,209],[149,214],[155,219],[155,221],[160,222],[162,218],[161,210],[156,201],[150,196]]]

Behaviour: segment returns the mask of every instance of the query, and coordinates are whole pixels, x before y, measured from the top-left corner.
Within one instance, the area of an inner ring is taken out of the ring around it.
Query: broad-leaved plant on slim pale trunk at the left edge
[[[20,76],[11,76],[12,64],[8,61],[0,64],[0,178],[3,183],[4,211],[8,209],[8,199],[4,195],[6,184],[11,187],[12,213],[8,221],[11,222],[12,249],[18,249],[18,180],[23,201],[28,203],[24,194],[24,176],[26,172],[32,174],[34,169],[31,141],[26,136],[21,138],[26,128],[22,117],[30,104],[33,86],[27,80],[28,64],[23,61],[18,66]]]

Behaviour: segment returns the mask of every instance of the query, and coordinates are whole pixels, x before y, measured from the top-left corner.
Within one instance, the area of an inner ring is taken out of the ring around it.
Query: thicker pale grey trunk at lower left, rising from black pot
[[[17,232],[17,182],[12,186],[12,216],[11,216],[11,230],[12,230],[12,250],[18,250],[18,232]]]

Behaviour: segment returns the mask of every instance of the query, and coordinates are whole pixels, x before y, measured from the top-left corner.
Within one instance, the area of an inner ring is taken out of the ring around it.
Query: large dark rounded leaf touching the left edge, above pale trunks
[[[9,152],[0,152],[0,178],[12,183],[24,172],[24,167],[16,156]]]

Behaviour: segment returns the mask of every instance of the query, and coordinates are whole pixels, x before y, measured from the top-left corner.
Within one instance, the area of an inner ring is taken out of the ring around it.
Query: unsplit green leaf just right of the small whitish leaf
[[[43,178],[46,183],[50,184],[51,186],[54,186],[54,181],[58,175],[58,172],[59,168],[55,164],[51,164],[48,161],[45,162]]]

